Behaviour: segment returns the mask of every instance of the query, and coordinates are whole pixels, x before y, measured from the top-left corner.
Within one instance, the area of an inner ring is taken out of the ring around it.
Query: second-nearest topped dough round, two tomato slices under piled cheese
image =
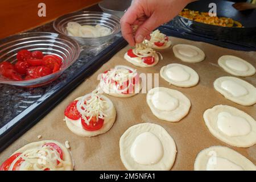
[[[69,130],[81,137],[106,133],[113,126],[116,115],[112,101],[97,90],[71,102],[64,114]]]

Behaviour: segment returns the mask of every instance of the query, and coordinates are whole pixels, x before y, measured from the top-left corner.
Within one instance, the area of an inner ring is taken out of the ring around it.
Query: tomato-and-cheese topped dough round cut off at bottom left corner
[[[0,171],[72,171],[73,160],[68,149],[55,140],[26,144],[0,167]]]

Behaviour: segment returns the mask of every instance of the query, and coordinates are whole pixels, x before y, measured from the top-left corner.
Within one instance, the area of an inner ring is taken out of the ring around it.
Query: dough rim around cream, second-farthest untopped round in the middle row
[[[175,81],[175,80],[171,80],[170,78],[168,78],[168,76],[166,75],[167,69],[171,68],[171,67],[175,67],[175,66],[179,66],[179,67],[183,68],[190,75],[189,80]],[[162,67],[160,70],[160,76],[162,78],[164,78],[164,80],[166,80],[170,84],[175,85],[175,86],[180,86],[180,87],[195,86],[199,82],[199,76],[196,73],[196,71],[190,67],[187,67],[186,65],[183,65],[183,64],[173,63],[173,64],[168,64],[168,65]]]

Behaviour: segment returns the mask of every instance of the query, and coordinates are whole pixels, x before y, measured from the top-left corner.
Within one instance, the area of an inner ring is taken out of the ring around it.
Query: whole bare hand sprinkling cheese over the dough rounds
[[[130,46],[150,39],[150,33],[170,21],[192,0],[135,0],[121,19],[123,38]],[[133,32],[133,25],[138,29]]]

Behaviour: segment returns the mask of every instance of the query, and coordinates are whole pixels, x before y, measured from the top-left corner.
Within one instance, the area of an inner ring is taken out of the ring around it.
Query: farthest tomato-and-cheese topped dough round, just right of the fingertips
[[[159,30],[152,32],[150,40],[144,40],[144,43],[147,43],[153,49],[167,49],[172,44],[168,36],[162,34]]]

